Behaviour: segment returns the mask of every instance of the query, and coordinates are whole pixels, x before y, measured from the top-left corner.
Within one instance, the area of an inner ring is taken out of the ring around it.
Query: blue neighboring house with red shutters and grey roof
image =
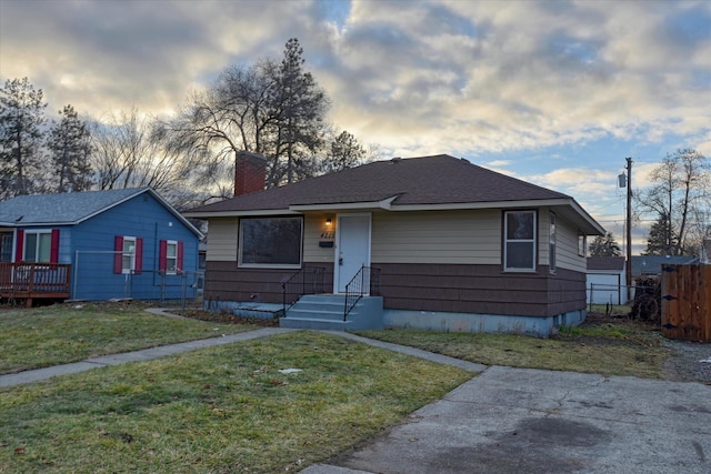
[[[17,196],[0,202],[0,296],[32,282],[74,300],[193,297],[201,236],[150,188]]]

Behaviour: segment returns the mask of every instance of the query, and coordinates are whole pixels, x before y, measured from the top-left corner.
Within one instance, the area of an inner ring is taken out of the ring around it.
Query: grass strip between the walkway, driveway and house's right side
[[[420,347],[485,365],[660,379],[670,351],[659,330],[628,320],[600,320],[549,339],[511,334],[363,331],[365,337]]]

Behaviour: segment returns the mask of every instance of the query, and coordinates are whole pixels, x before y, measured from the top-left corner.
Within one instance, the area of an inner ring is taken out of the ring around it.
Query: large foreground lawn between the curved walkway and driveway
[[[99,369],[0,390],[0,472],[299,471],[469,377],[309,332]]]

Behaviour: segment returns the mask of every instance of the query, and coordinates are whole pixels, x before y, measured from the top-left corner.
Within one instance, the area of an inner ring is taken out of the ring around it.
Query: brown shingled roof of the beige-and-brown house
[[[279,210],[291,205],[379,202],[392,205],[570,199],[447,154],[375,161],[292,184],[239,195],[192,212]]]

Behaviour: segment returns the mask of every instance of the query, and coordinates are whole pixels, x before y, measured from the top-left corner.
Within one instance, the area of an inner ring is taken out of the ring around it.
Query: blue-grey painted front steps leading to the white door
[[[342,294],[307,294],[279,320],[279,327],[361,331],[383,329],[382,296],[362,296],[343,321],[346,296]]]

